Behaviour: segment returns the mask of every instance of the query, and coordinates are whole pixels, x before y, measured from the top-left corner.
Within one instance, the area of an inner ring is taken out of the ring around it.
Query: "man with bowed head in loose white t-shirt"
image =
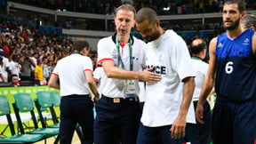
[[[196,119],[191,100],[195,72],[187,44],[174,31],[164,31],[150,8],[137,13],[136,27],[148,41],[147,68],[153,67],[154,72],[162,75],[160,82],[146,84],[137,144],[193,141]],[[185,134],[189,136],[186,140]]]

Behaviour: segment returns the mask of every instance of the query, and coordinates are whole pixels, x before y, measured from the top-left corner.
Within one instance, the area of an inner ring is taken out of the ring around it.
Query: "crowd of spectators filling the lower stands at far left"
[[[47,80],[58,60],[73,52],[72,40],[56,33],[43,33],[14,21],[0,20],[0,82]],[[95,56],[94,56],[95,57]]]

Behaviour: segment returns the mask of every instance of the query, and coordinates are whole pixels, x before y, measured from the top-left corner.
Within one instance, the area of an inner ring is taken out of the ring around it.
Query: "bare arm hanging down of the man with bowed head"
[[[182,80],[184,83],[183,87],[183,98],[180,105],[180,111],[178,117],[172,124],[171,133],[172,138],[178,139],[181,136],[185,136],[185,128],[187,123],[188,108],[190,106],[193,92],[195,89],[195,77],[189,76]]]

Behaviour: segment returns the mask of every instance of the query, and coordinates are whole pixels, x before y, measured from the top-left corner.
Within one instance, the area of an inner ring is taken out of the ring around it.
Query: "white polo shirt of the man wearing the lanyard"
[[[132,59],[133,71],[141,71],[145,66],[145,44],[140,39],[132,36]],[[121,58],[124,62],[124,68],[130,70],[130,48],[129,44],[125,44],[122,50],[120,46]],[[116,48],[116,36],[108,36],[100,39],[98,43],[98,63],[103,60],[113,60],[116,67],[122,68],[118,65],[118,55]],[[102,94],[110,98],[124,98],[124,81],[116,78],[104,78],[100,82],[102,84]],[[135,80],[135,90],[139,96],[140,87],[138,80]]]

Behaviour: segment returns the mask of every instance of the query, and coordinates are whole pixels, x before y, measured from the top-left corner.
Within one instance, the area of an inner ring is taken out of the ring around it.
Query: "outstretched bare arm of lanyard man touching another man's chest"
[[[105,74],[108,78],[139,79],[150,83],[156,83],[161,79],[161,75],[150,72],[153,68],[148,68],[144,71],[129,71],[114,66],[112,60],[103,60],[101,62],[101,66],[104,68]]]

